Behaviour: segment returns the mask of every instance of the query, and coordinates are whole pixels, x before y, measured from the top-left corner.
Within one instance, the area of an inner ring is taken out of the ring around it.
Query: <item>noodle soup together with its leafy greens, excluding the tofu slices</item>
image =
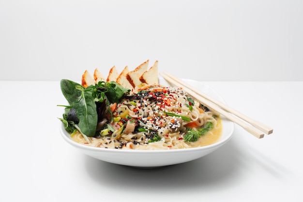
[[[62,79],[61,91],[69,106],[60,120],[73,140],[89,146],[180,149],[212,144],[221,135],[219,114],[180,88],[130,90],[114,81],[84,88]]]

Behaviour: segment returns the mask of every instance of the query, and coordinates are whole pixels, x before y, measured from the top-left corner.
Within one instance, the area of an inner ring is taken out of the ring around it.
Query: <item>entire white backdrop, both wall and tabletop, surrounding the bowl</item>
[[[0,201],[303,201],[302,36],[302,0],[0,0]],[[153,170],[68,145],[60,79],[147,59],[273,134],[235,125],[212,154]]]

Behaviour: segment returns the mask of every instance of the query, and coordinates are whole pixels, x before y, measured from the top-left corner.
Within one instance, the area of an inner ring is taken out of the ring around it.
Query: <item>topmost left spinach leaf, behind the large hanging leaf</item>
[[[67,79],[60,81],[61,92],[71,106],[73,106],[74,101],[81,94],[81,92],[76,89],[76,86],[80,86],[80,84]]]

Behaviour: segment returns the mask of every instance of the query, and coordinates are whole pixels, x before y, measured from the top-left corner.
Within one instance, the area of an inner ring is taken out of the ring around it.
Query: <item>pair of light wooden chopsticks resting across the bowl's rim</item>
[[[257,138],[263,138],[264,133],[267,135],[273,133],[273,128],[247,117],[241,112],[230,108],[229,106],[218,100],[215,100],[206,93],[198,91],[194,87],[184,83],[182,80],[168,74],[167,72],[160,73],[160,75],[165,80],[167,80],[167,82],[175,86],[182,87],[182,89],[186,91],[186,93],[197,99],[199,102],[222,114],[235,124],[240,125],[242,128],[244,128],[246,131],[253,134]]]

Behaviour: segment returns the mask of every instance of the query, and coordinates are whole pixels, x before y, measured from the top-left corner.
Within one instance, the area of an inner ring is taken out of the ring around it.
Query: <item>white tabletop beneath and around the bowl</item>
[[[207,82],[273,127],[200,159],[154,170],[96,160],[59,133],[60,81],[0,81],[0,201],[302,201],[303,82]]]

